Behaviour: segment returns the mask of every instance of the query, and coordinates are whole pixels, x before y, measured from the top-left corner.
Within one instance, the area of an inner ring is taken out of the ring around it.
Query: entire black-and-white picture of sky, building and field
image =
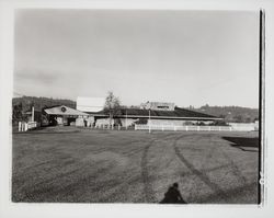
[[[10,203],[263,207],[265,16],[15,8]]]

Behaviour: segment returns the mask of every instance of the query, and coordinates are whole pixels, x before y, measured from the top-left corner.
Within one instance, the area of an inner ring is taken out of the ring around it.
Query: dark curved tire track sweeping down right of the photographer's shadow
[[[213,183],[209,177],[206,175],[205,172],[197,170],[190,161],[187,161],[184,156],[180,152],[180,149],[178,148],[176,144],[178,140],[181,139],[184,136],[178,137],[174,142],[173,142],[173,148],[175,151],[176,157],[179,160],[194,174],[196,175],[203,183],[205,183],[214,193],[216,194],[217,197],[226,200],[229,196],[226,192],[224,192],[216,183]]]

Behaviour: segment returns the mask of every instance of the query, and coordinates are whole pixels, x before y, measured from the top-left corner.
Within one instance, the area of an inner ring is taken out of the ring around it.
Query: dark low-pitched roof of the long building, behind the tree
[[[109,115],[107,111],[101,111],[98,114],[102,115]],[[96,114],[94,114],[96,116]],[[115,112],[114,116],[116,117],[138,117],[138,118],[147,118],[149,117],[149,110],[141,110],[141,108],[119,108]],[[221,119],[219,117],[198,113],[181,107],[175,107],[174,111],[157,111],[157,110],[150,110],[150,117],[151,118],[173,118],[173,119]]]

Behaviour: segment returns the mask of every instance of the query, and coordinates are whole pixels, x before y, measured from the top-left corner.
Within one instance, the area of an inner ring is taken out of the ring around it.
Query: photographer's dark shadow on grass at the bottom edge
[[[160,202],[160,204],[187,204],[180,191],[178,183],[174,183],[172,186],[169,187],[168,192],[164,193],[164,198]]]

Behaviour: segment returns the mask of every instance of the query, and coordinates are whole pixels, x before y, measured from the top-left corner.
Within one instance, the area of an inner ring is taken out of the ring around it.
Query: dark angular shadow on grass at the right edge
[[[232,144],[230,146],[238,148],[242,151],[258,152],[259,150],[259,138],[244,138],[244,137],[222,137]]]

